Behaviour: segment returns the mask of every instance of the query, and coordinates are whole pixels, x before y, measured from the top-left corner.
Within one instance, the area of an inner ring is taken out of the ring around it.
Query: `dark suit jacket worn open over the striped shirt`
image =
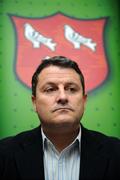
[[[82,126],[80,180],[120,180],[120,141]],[[0,141],[0,179],[44,180],[40,127]]]

